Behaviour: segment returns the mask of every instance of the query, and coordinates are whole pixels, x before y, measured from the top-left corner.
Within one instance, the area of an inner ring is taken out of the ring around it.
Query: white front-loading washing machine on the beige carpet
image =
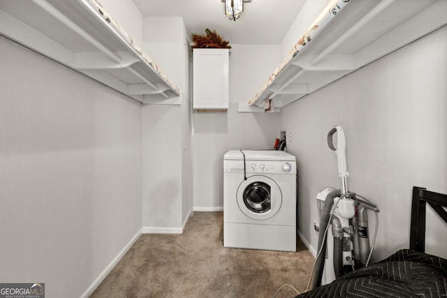
[[[296,251],[296,161],[284,151],[223,156],[223,246]]]

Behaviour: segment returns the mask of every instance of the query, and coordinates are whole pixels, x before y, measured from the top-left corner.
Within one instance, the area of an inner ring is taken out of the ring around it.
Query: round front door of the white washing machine
[[[249,218],[263,221],[272,218],[282,204],[281,189],[271,178],[263,175],[247,177],[237,188],[237,205]]]

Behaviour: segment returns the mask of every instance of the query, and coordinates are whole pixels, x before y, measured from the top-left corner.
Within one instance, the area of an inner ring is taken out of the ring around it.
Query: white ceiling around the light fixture
[[[231,44],[277,45],[306,0],[251,0],[238,20],[225,15],[221,0],[133,0],[143,17],[183,17],[186,30],[204,34],[216,29]]]

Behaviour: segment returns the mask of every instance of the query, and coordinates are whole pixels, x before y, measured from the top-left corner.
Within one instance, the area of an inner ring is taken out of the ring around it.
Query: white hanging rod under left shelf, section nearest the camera
[[[31,1],[33,1],[37,6],[41,7],[47,13],[50,13],[50,15],[59,20],[59,22],[65,24],[68,28],[78,33],[79,36],[82,36],[82,38],[91,43],[91,45],[94,45],[94,47],[96,47],[98,50],[106,54],[108,57],[110,57],[110,59],[112,59],[116,63],[120,63],[122,61],[120,57],[118,57],[116,54],[108,50],[107,47],[105,47],[102,43],[99,43],[98,40],[94,39],[91,35],[89,35],[89,33],[85,32],[77,24],[73,23],[70,19],[68,19],[68,17],[66,17],[56,8],[54,8],[47,1],[39,1],[39,0],[31,0]]]

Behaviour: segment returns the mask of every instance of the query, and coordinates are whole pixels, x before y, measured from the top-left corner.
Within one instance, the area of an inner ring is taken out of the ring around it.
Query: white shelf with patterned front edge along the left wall
[[[0,0],[0,35],[141,103],[181,101],[175,84],[96,0]]]

